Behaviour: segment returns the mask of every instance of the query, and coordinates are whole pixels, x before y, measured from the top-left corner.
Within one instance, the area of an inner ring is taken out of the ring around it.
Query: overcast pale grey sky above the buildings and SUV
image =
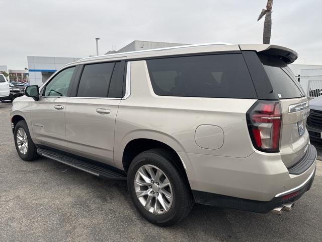
[[[133,40],[262,43],[267,0],[0,0],[0,66],[24,69],[27,55],[86,57]],[[321,0],[274,0],[271,44],[294,49],[294,64],[322,65]]]

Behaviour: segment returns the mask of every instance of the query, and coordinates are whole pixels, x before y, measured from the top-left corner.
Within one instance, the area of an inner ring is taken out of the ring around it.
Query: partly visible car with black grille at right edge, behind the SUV
[[[309,101],[310,115],[307,118],[307,131],[313,141],[322,141],[322,96]]]

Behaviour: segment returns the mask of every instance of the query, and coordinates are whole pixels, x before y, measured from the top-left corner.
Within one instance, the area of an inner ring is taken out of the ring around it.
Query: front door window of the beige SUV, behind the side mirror
[[[75,67],[67,68],[58,73],[51,81],[46,85],[44,96],[46,97],[65,97],[70,85],[72,74]]]

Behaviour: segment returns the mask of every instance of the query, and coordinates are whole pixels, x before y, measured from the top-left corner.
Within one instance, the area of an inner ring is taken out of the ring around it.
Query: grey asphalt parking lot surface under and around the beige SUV
[[[135,211],[124,181],[46,158],[22,161],[10,108],[0,103],[0,241],[321,241],[321,163],[311,190],[289,213],[196,205],[180,224],[162,228]]]

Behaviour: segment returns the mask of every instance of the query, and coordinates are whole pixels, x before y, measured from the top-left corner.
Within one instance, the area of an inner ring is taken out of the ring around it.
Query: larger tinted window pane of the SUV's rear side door
[[[107,97],[113,68],[114,62],[86,65],[79,81],[77,97]]]

